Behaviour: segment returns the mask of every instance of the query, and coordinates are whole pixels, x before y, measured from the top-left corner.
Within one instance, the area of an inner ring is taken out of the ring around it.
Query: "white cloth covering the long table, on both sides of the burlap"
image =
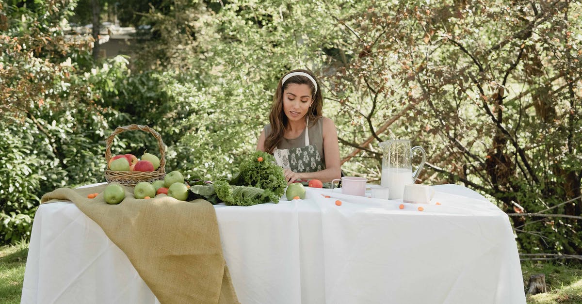
[[[310,188],[304,200],[216,205],[240,302],[526,303],[508,216],[463,186],[432,188],[424,211]],[[159,302],[101,228],[59,202],[38,208],[22,303]]]

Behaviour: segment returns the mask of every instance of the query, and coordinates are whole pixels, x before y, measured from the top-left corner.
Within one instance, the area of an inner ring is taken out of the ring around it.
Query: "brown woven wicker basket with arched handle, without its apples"
[[[133,124],[116,128],[115,131],[113,131],[113,133],[107,137],[107,140],[105,140],[105,144],[107,144],[107,149],[105,150],[105,162],[107,162],[108,166],[109,160],[111,160],[111,144],[113,143],[113,139],[115,139],[115,136],[119,133],[123,133],[127,130],[142,130],[145,132],[150,132],[151,135],[153,135],[155,139],[158,140],[159,153],[161,155],[161,158],[159,159],[159,167],[156,171],[153,172],[111,171],[107,169],[105,170],[105,181],[108,183],[119,182],[122,185],[135,186],[139,182],[154,182],[160,179],[164,179],[164,176],[166,175],[166,171],[164,169],[166,165],[166,146],[162,141],[162,137],[159,136],[159,133],[155,132],[155,130],[148,126]]]

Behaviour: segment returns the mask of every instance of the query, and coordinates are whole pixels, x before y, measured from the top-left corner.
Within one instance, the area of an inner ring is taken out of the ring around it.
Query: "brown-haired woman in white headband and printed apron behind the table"
[[[321,116],[321,88],[308,70],[292,70],[279,80],[269,123],[257,150],[273,154],[288,183],[340,178],[338,132]]]

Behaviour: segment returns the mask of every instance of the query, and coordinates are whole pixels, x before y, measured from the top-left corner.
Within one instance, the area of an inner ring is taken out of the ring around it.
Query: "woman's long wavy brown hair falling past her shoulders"
[[[317,90],[315,90],[315,86],[310,79],[306,76],[296,75],[289,77],[288,80],[285,82],[285,86],[283,86],[282,80],[283,78],[288,75],[289,73],[293,72],[303,72],[310,75],[317,83]],[[269,122],[271,122],[271,134],[267,136],[265,139],[265,151],[267,153],[273,154],[273,150],[275,147],[281,142],[283,139],[283,134],[285,133],[285,128],[289,123],[287,116],[285,115],[285,111],[283,111],[283,91],[287,89],[289,83],[296,83],[296,84],[307,84],[311,88],[311,100],[313,100],[313,104],[307,111],[307,115],[309,118],[309,124],[313,126],[318,119],[321,118],[321,108],[323,106],[323,98],[321,96],[321,86],[320,83],[317,81],[317,78],[313,75],[313,73],[309,72],[308,70],[292,70],[283,75],[281,79],[279,79],[279,84],[277,84],[277,90],[275,91],[275,95],[273,96],[273,104],[271,105],[271,114],[269,114]]]

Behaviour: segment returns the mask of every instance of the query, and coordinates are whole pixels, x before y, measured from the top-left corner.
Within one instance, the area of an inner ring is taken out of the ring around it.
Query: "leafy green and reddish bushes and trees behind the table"
[[[29,237],[43,193],[104,181],[116,126],[157,129],[166,171],[228,177],[254,151],[279,77],[307,68],[347,174],[379,182],[378,144],[412,139],[428,153],[417,182],[487,196],[522,253],[582,254],[580,2],[151,4],[116,8],[151,26],[141,51],[95,61],[66,31],[91,1],[0,2],[2,242]],[[112,148],[145,150],[157,143],[139,132]]]

